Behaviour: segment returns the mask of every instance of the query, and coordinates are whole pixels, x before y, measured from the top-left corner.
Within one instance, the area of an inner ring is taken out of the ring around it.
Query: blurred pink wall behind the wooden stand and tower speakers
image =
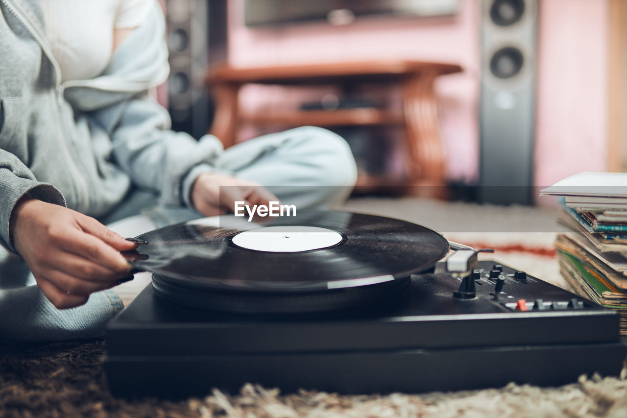
[[[460,63],[464,73],[438,82],[448,175],[473,181],[478,171],[479,2],[463,0],[446,19],[363,18],[246,28],[242,0],[229,0],[229,62],[237,67],[402,58]],[[606,166],[606,26],[603,0],[539,1],[535,183],[549,185]],[[277,90],[280,92],[281,90]],[[250,107],[267,92],[249,88]],[[282,95],[274,95],[282,100]],[[285,96],[283,96],[285,97]]]

